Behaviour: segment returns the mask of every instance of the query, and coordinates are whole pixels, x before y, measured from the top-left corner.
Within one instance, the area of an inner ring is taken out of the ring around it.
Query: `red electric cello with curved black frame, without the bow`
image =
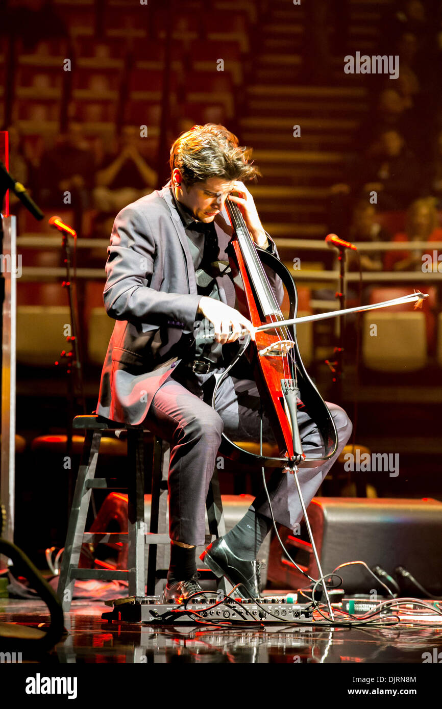
[[[256,327],[284,320],[264,266],[279,276],[289,296],[289,317],[296,317],[297,289],[289,270],[275,256],[255,247],[240,211],[235,203],[226,202],[233,226],[229,245],[229,262],[236,289],[236,308]],[[262,411],[270,420],[275,445],[232,441],[223,433],[220,451],[227,457],[245,464],[264,467],[319,467],[338,447],[336,426],[326,403],[307,374],[296,338],[296,326],[282,330],[257,332],[255,342],[245,338],[236,357],[221,374],[214,375],[212,393],[214,406],[219,386],[241,357],[246,357],[260,393]],[[302,450],[297,425],[297,410],[302,407],[316,423],[324,453],[309,454]]]

